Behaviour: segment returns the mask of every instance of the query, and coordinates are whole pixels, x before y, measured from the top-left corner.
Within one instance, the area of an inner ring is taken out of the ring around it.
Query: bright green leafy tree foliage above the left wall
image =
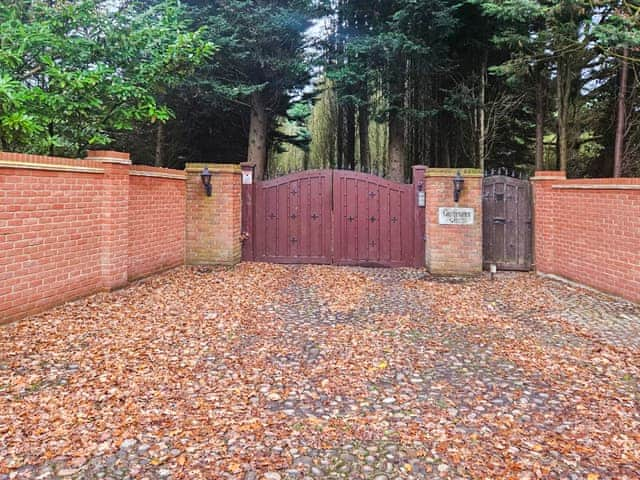
[[[163,122],[157,94],[213,52],[167,0],[114,11],[99,0],[0,5],[0,148],[80,155],[115,131]]]

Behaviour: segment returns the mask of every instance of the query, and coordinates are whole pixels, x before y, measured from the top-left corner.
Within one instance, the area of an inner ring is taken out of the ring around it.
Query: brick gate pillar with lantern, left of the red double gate
[[[212,195],[200,179],[204,163],[187,163],[187,263],[234,265],[242,257],[239,165],[207,164]]]

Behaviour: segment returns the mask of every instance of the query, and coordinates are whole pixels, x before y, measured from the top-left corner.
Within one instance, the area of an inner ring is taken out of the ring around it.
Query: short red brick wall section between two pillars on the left
[[[175,171],[173,171],[175,172]],[[184,264],[186,189],[161,168],[133,166],[129,176],[129,280]]]

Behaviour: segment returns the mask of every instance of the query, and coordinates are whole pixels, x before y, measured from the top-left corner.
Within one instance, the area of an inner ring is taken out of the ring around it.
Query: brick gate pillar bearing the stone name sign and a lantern
[[[453,199],[453,178],[457,172],[464,178],[458,203]],[[429,168],[425,173],[427,197],[426,264],[435,275],[470,275],[482,272],[482,172],[476,169]],[[456,217],[471,224],[451,224],[440,220],[441,208],[447,222]],[[447,216],[448,215],[448,216]]]

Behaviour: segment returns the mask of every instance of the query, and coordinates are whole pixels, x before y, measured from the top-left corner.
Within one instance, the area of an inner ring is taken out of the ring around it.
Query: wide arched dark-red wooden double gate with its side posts
[[[347,170],[243,182],[243,260],[424,266],[422,186]]]

